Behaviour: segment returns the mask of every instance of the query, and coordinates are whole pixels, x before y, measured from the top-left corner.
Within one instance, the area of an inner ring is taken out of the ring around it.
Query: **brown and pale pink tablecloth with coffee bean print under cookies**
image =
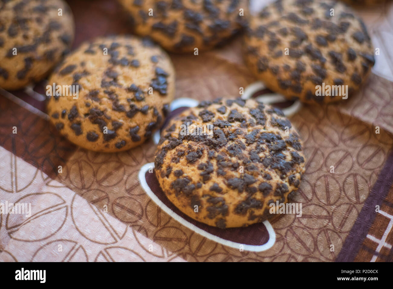
[[[129,31],[114,1],[68,3],[74,47]],[[345,102],[303,105],[290,117],[307,158],[301,217],[219,233],[196,226],[160,198],[149,175],[152,140],[123,153],[79,149],[48,124],[42,101],[4,94],[0,202],[31,204],[31,216],[0,214],[0,261],[392,261],[393,3],[357,10],[380,48],[368,82]],[[176,98],[237,96],[255,81],[240,48],[237,38],[198,56],[171,55]]]

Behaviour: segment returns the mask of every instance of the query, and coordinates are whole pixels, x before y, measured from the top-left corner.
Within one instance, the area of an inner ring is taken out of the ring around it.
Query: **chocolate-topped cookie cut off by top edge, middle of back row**
[[[246,25],[248,0],[119,0],[135,32],[171,52],[207,50]]]

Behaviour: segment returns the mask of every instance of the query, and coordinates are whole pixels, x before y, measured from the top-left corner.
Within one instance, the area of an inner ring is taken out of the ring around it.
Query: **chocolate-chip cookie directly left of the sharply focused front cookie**
[[[150,40],[97,38],[69,54],[51,75],[48,114],[76,145],[124,151],[160,127],[174,97],[174,77],[168,55]]]

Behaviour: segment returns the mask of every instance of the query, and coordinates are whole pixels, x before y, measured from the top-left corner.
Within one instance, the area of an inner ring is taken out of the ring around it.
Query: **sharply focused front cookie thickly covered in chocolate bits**
[[[302,142],[283,112],[240,98],[203,101],[169,121],[154,164],[179,210],[219,228],[266,220],[305,171]]]

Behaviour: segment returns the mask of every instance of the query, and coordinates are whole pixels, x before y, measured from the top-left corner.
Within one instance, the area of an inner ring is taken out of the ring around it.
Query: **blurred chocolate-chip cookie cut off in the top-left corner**
[[[44,79],[73,37],[72,12],[62,0],[0,1],[0,87],[15,90]]]

